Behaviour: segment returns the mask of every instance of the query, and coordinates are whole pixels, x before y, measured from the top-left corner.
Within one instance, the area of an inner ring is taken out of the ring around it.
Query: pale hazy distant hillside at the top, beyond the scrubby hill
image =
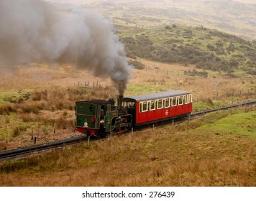
[[[57,1],[57,0],[51,0]],[[163,24],[204,26],[235,34],[244,39],[255,39],[256,4],[231,0],[99,0],[80,1],[78,4],[95,9],[115,24],[129,27],[162,27]],[[70,4],[76,1],[66,1]],[[60,1],[59,1],[60,2]]]

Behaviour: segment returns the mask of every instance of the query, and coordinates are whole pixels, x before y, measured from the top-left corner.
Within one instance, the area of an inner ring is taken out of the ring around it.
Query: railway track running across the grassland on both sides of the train
[[[232,106],[226,106],[226,107],[222,107],[222,108],[214,108],[214,109],[207,110],[207,111],[192,113],[189,118],[193,119],[193,118],[197,118],[198,116],[204,116],[206,113],[211,113],[211,112],[215,112],[215,111],[224,111],[224,110],[228,110],[230,108],[252,106],[255,104],[256,104],[256,100],[247,101],[244,103],[236,103]],[[180,121],[176,121],[176,123],[177,122],[180,122]],[[40,154],[41,152],[44,152],[44,151],[50,151],[52,149],[63,148],[63,146],[69,146],[72,144],[78,144],[78,143],[87,141],[87,139],[88,139],[87,136],[82,135],[82,136],[72,137],[70,139],[63,139],[60,141],[50,142],[47,144],[39,144],[39,145],[34,145],[34,146],[28,146],[25,148],[1,151],[0,152],[0,162],[5,162],[5,161],[13,160],[13,159],[24,159],[26,157],[29,157],[31,154]]]

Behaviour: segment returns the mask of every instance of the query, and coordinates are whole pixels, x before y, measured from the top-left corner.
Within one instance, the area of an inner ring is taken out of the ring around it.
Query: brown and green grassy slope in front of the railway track
[[[255,186],[254,109],[0,164],[0,186]]]

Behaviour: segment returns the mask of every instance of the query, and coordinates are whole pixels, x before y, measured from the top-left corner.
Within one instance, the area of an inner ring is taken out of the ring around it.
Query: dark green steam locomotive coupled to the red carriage
[[[76,102],[76,129],[83,134],[99,136],[131,126],[132,116],[124,113],[123,108],[114,106],[114,101]]]

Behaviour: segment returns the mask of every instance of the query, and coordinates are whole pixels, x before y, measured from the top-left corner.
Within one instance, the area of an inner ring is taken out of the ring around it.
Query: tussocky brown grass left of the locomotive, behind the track
[[[76,101],[107,99],[112,91],[108,86],[98,86],[96,90],[77,86],[35,90],[22,103],[1,106],[4,118],[0,120],[0,141],[4,146],[0,150],[32,144],[29,139],[33,131],[38,136],[37,143],[73,136]],[[23,127],[29,129],[18,129]]]

